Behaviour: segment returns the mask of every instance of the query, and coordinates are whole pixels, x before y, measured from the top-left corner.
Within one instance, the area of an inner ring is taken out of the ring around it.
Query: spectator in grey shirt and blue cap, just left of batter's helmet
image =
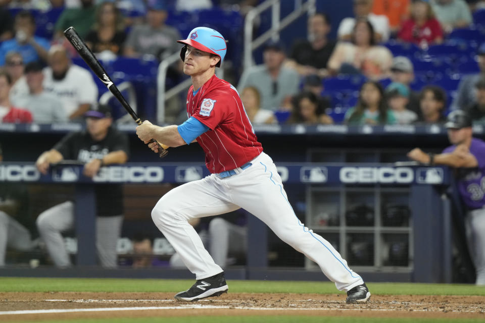
[[[140,57],[153,55],[159,60],[179,51],[177,40],[181,38],[177,29],[167,26],[167,5],[163,1],[149,3],[147,23],[133,26],[126,39],[124,55]]]

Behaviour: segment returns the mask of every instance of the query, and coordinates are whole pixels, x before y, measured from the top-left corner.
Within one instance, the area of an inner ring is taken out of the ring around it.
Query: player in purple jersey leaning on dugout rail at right
[[[462,110],[448,115],[445,124],[451,146],[440,154],[414,148],[408,156],[425,165],[446,165],[456,169],[457,188],[467,209],[465,229],[476,269],[476,285],[485,285],[485,142],[473,138],[472,122]]]

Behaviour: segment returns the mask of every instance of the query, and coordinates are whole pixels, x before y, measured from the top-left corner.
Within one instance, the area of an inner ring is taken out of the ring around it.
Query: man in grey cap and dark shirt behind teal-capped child
[[[413,111],[417,115],[420,114],[419,108],[419,93],[413,91],[410,87],[414,81],[414,66],[413,63],[405,56],[397,56],[393,59],[391,66],[391,80],[393,82],[402,83],[409,89],[409,102],[406,109]]]

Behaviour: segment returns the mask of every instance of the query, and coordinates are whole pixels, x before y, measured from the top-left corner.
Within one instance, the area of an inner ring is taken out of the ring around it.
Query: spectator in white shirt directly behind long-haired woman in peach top
[[[385,42],[389,39],[391,29],[389,19],[384,15],[375,15],[372,13],[373,0],[354,0],[355,18],[344,18],[337,30],[337,37],[340,40],[351,40],[352,31],[355,29],[356,21],[359,19],[369,20],[373,27],[374,38],[376,43]]]

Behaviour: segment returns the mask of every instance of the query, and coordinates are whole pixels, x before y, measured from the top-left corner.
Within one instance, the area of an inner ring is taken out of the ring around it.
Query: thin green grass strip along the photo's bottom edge
[[[189,317],[140,317],[48,320],[36,319],[42,323],[478,323],[482,319],[443,318],[376,318],[376,317],[333,317],[333,316],[189,316]],[[27,323],[27,321],[17,323]]]

